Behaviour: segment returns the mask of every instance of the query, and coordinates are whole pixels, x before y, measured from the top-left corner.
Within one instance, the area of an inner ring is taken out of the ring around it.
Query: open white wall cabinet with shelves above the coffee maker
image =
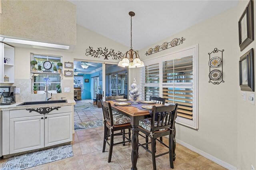
[[[8,58],[8,63],[4,63]],[[9,82],[4,82],[4,76],[9,77]],[[14,47],[0,42],[0,83],[14,83]]]

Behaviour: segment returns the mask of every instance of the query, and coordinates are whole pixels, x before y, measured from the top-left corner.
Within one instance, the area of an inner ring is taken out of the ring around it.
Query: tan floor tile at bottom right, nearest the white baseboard
[[[192,160],[189,160],[187,163],[194,166],[197,170],[205,170],[205,169],[207,169],[207,170],[225,170],[226,169],[201,155]]]

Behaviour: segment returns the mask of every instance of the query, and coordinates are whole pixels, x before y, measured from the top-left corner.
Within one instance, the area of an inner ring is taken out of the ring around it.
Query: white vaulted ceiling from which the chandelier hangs
[[[77,24],[130,47],[130,11],[132,47],[140,50],[172,36],[225,10],[238,0],[70,0],[76,4]],[[218,24],[218,23],[216,23]]]

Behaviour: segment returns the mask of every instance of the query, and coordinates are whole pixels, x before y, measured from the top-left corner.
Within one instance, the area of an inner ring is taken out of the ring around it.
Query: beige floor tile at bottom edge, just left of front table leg
[[[86,169],[88,170],[122,170],[122,166],[116,158],[112,156],[111,162],[108,163],[108,152],[101,151],[83,155]],[[95,161],[97,160],[97,161]]]

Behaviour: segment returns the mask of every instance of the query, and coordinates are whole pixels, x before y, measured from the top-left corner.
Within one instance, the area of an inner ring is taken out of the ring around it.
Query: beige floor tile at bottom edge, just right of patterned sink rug
[[[66,158],[50,163],[49,170],[85,170],[82,156]]]

